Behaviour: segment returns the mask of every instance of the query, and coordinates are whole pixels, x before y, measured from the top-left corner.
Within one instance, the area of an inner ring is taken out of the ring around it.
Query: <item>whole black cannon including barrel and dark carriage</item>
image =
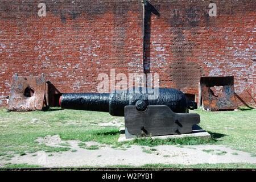
[[[60,97],[63,109],[105,111],[114,116],[125,116],[126,138],[141,135],[172,135],[191,133],[200,122],[194,101],[177,89],[132,88],[114,93],[64,93]]]

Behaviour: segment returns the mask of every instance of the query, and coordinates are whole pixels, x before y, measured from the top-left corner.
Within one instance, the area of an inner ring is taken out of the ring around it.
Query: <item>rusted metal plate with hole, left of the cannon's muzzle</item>
[[[45,100],[46,78],[14,75],[11,82],[8,110],[42,110]]]

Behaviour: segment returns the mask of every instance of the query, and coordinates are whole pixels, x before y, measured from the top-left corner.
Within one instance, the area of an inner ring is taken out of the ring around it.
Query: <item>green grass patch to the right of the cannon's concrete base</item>
[[[193,110],[200,114],[200,126],[207,130],[216,144],[256,154],[256,109],[238,111]]]

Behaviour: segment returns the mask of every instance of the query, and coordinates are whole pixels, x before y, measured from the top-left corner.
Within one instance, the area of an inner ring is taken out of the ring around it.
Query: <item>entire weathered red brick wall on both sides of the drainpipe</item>
[[[255,105],[255,1],[213,2],[217,17],[209,1],[150,1],[148,72],[159,73],[160,86],[196,95],[201,76],[234,76],[236,93]],[[98,73],[111,68],[142,73],[141,0],[1,0],[0,68],[0,105],[14,73],[44,73],[60,92],[96,92]]]

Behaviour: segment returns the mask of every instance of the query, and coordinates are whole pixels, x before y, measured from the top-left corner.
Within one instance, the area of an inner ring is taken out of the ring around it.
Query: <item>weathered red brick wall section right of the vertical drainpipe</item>
[[[255,1],[213,1],[217,17],[209,1],[160,2],[150,1],[146,49],[160,85],[198,95],[201,76],[234,76],[238,96],[255,105]]]

